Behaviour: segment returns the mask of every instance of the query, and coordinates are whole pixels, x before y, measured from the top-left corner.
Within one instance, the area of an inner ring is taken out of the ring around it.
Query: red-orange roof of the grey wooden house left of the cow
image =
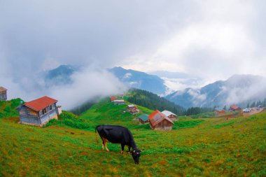
[[[56,103],[57,100],[56,99],[52,99],[50,97],[41,97],[39,99],[34,99],[32,101],[29,101],[27,103],[25,103],[24,105],[33,109],[34,111],[41,111],[43,108]]]

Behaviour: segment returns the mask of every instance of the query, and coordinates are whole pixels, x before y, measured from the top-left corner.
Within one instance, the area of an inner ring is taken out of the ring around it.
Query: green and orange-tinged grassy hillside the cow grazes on
[[[120,155],[118,144],[109,143],[110,153],[102,151],[90,128],[31,127],[7,115],[0,118],[0,176],[266,176],[265,112],[231,120],[183,119],[176,130],[160,132],[136,128],[134,116],[123,109],[105,100],[70,119],[91,127],[130,127],[145,149],[139,165],[131,155]]]

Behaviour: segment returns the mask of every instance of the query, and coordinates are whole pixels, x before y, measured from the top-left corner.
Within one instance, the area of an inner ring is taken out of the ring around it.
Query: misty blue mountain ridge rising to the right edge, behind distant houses
[[[186,88],[165,98],[186,108],[192,106],[225,106],[262,100],[266,97],[266,78],[253,75],[234,75],[200,89]]]

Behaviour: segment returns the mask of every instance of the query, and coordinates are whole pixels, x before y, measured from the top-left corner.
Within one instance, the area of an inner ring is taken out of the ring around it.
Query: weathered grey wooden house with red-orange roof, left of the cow
[[[57,119],[59,113],[56,103],[56,99],[45,96],[22,104],[18,108],[20,123],[42,126],[50,119]]]

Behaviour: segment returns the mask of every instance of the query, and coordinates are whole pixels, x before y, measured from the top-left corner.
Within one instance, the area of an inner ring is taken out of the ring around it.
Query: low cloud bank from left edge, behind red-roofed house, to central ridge
[[[31,101],[38,97],[48,96],[58,100],[63,109],[69,110],[85,101],[96,97],[108,97],[112,94],[123,93],[127,87],[109,73],[106,69],[86,67],[73,73],[72,82],[66,85],[54,85],[45,87],[44,78],[21,77],[1,78],[1,86],[8,89],[8,99],[20,97],[25,101]]]

